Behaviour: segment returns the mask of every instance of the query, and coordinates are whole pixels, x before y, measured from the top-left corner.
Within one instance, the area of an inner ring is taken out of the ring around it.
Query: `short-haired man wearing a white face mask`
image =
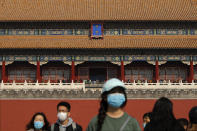
[[[51,125],[51,131],[82,131],[82,127],[70,117],[71,106],[68,102],[57,105],[57,122]]]

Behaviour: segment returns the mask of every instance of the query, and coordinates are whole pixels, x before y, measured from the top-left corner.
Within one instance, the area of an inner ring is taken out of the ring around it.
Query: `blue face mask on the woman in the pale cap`
[[[122,93],[113,93],[107,96],[107,102],[110,106],[118,108],[125,102],[125,96]]]

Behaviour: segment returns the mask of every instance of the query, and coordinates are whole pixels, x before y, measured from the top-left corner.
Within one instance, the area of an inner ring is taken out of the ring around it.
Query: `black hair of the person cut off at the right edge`
[[[189,111],[189,121],[192,126],[192,124],[197,124],[197,106],[194,106]]]

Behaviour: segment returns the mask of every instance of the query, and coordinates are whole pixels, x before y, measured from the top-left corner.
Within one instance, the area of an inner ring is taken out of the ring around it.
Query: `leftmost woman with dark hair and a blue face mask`
[[[26,126],[27,131],[50,131],[49,122],[44,113],[35,113]]]

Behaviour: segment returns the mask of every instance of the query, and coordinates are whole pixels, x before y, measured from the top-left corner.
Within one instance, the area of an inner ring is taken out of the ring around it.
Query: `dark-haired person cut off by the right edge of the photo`
[[[189,112],[189,126],[187,131],[197,131],[197,106]]]

